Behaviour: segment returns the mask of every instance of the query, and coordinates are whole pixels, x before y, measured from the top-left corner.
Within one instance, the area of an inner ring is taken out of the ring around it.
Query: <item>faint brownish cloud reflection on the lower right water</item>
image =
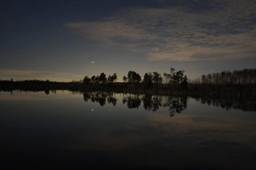
[[[194,139],[196,146],[205,141],[225,141],[243,143],[255,148],[253,135],[248,136],[249,133],[254,134],[252,127],[255,126],[250,118],[245,118],[248,126],[244,126],[241,117],[235,115],[227,117],[225,114],[202,116],[183,113],[171,118],[167,114],[149,114],[148,120],[152,126],[158,127],[159,133],[170,131],[170,135]],[[165,126],[161,126],[163,124]],[[251,138],[250,142],[248,138]]]

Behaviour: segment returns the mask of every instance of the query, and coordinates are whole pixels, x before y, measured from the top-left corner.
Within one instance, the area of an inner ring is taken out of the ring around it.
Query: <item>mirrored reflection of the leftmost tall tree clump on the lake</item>
[[[117,99],[114,97],[113,93],[107,93],[103,91],[97,91],[97,92],[84,92],[84,101],[88,101],[91,99],[92,102],[97,102],[100,104],[100,106],[104,106],[106,104],[106,101],[108,100],[108,103],[112,103],[113,106],[116,105]]]

